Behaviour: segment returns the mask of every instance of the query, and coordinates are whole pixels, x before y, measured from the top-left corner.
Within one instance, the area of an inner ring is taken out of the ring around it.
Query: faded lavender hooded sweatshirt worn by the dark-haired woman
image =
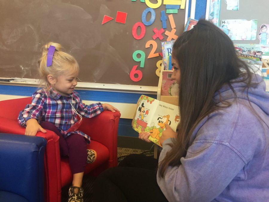
[[[180,166],[169,166],[164,178],[157,174],[168,201],[269,201],[269,93],[265,82],[249,89],[249,100],[261,120],[242,92],[245,84],[232,86],[238,99],[198,124]],[[223,100],[233,101],[229,86],[220,92]],[[172,139],[163,142],[159,162],[171,149],[168,143]]]

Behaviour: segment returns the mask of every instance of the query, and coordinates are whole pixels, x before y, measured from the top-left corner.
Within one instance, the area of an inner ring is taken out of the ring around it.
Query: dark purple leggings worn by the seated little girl
[[[69,165],[72,174],[84,172],[87,162],[87,145],[84,137],[73,133],[67,138],[63,138],[57,127],[51,122],[44,121],[40,123],[41,127],[56,133],[59,139],[61,156],[69,156]]]

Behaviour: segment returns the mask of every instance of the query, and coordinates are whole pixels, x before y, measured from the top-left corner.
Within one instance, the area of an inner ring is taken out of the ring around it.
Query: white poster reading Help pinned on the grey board
[[[221,20],[220,27],[230,30],[231,40],[255,40],[258,20],[229,19]]]

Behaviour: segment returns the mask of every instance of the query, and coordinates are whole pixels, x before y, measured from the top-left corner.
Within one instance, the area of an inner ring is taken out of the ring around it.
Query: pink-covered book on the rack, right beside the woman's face
[[[163,70],[161,95],[178,96],[178,84],[175,79],[171,79],[173,71]]]

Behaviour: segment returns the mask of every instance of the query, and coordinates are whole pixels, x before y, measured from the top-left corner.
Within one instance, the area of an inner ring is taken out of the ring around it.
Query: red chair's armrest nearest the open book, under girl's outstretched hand
[[[98,116],[94,116],[90,119],[83,118],[82,124],[79,128],[79,130],[89,135],[92,140],[100,142],[108,148],[109,161],[113,162],[111,166],[117,165],[117,138],[119,120],[119,112],[105,110]]]

